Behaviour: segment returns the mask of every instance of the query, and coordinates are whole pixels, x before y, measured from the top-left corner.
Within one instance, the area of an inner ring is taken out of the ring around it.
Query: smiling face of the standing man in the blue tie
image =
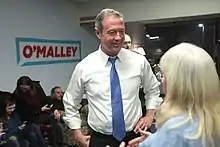
[[[102,26],[102,31],[96,30],[102,50],[109,56],[116,56],[124,42],[124,21],[116,16],[108,16],[103,19]]]

